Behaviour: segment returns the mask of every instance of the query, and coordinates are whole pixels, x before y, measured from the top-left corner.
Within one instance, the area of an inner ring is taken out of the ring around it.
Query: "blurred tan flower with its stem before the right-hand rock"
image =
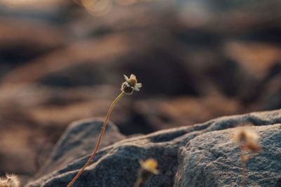
[[[258,153],[261,148],[258,144],[259,134],[250,127],[237,127],[233,134],[237,145],[240,148],[240,160],[242,167],[242,186],[247,183],[246,163],[253,156],[252,153]]]

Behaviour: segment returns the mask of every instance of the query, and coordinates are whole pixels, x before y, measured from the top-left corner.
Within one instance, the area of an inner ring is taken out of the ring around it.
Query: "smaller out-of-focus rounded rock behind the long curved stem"
[[[70,124],[55,146],[46,165],[39,171],[37,176],[46,174],[91,153],[94,146],[96,146],[96,141],[98,141],[102,127],[103,119],[100,118],[78,120]],[[119,133],[119,130],[114,124],[111,122],[107,123],[106,132],[103,135],[100,148],[109,146],[125,138],[123,134]]]

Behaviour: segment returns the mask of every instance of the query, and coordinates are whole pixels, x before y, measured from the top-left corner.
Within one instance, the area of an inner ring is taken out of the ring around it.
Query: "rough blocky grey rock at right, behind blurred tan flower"
[[[281,124],[254,127],[262,152],[247,162],[247,186],[280,186]],[[209,132],[180,148],[174,186],[242,186],[233,129]]]

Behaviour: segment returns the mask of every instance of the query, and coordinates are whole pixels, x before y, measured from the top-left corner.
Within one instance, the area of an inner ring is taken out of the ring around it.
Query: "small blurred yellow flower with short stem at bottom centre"
[[[138,187],[143,183],[144,181],[147,181],[152,174],[159,174],[159,171],[157,169],[157,161],[153,158],[148,158],[148,160],[141,160],[140,161],[141,167],[138,170],[138,178],[136,179],[136,183],[133,185],[133,187]]]

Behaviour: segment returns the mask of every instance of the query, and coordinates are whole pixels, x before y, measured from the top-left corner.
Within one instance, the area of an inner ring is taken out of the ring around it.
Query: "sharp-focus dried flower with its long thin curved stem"
[[[91,160],[93,160],[93,158],[95,158],[95,155],[98,152],[98,148],[100,147],[101,139],[103,137],[103,134],[105,133],[105,127],[106,127],[107,121],[110,118],[110,114],[112,113],[112,110],[113,110],[114,106],[117,104],[117,102],[119,101],[119,99],[121,99],[124,95],[132,95],[133,91],[140,90],[142,84],[138,83],[135,75],[131,74],[130,78],[128,78],[127,76],[124,75],[124,78],[125,78],[125,82],[122,83],[121,93],[115,98],[115,100],[112,102],[112,104],[110,106],[110,109],[107,111],[107,115],[105,116],[105,120],[103,123],[103,128],[100,132],[100,136],[98,137],[98,142],[96,144],[96,148],[93,150],[93,153],[91,154],[89,160],[85,163],[85,165],[83,167],[81,167],[81,169],[79,169],[79,172],[74,176],[72,181],[70,181],[70,183],[68,183],[67,187],[70,187],[73,185],[73,183],[78,179],[78,177],[84,172],[84,169],[86,169],[86,167],[89,166]]]

